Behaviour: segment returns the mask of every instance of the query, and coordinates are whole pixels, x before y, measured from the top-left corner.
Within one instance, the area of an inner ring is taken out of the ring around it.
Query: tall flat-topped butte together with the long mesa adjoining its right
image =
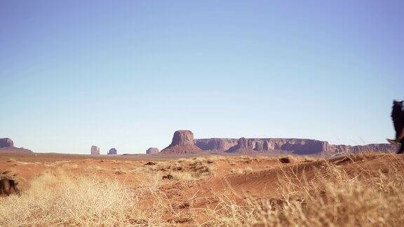
[[[396,146],[391,144],[368,144],[364,146],[332,145],[316,139],[293,138],[210,138],[194,139],[189,130],[174,133],[170,146],[160,153],[197,153],[215,151],[228,153],[295,153],[295,154],[335,154],[360,153],[364,151],[395,152]]]

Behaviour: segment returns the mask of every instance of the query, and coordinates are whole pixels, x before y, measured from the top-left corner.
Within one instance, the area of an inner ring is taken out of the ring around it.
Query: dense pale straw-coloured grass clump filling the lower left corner
[[[116,181],[43,174],[28,191],[0,200],[5,226],[122,223],[135,212],[137,195]]]

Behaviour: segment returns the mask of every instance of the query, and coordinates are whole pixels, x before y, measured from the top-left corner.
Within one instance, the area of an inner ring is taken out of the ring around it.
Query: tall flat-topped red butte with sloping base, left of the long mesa
[[[160,153],[179,155],[201,151],[202,149],[194,144],[194,133],[189,130],[180,130],[174,132],[173,141],[170,146],[167,146]]]

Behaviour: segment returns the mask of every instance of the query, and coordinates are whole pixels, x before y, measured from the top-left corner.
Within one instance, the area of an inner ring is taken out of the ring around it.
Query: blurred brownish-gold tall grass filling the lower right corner
[[[404,177],[392,165],[389,174],[363,170],[352,177],[325,162],[325,171],[311,181],[290,174],[278,176],[281,198],[248,197],[243,204],[216,195],[210,209],[212,226],[402,226]],[[325,172],[325,174],[324,174]],[[293,176],[293,175],[292,175]],[[325,177],[326,176],[326,177]],[[241,195],[238,195],[241,198]]]

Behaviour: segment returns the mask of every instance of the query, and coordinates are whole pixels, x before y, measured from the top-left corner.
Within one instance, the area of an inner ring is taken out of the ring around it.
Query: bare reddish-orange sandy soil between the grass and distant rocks
[[[179,176],[161,181],[160,190],[173,202],[176,212],[197,216],[198,223],[204,214],[198,208],[215,207],[217,194],[229,192],[229,196],[243,202],[243,198],[278,199],[283,195],[282,181],[309,182],[315,172],[322,172],[326,178],[327,165],[343,168],[348,174],[363,177],[372,172],[389,172],[392,165],[404,172],[404,156],[395,154],[363,154],[320,160],[289,156],[85,156],[56,153],[0,154],[0,174],[15,179],[21,191],[27,190],[35,177],[49,172],[61,171],[72,177],[101,177],[116,179],[123,184],[136,187],[146,179],[168,174]],[[362,170],[366,170],[365,172]],[[191,173],[189,180],[181,177]],[[177,175],[175,175],[177,174]],[[309,184],[309,183],[307,183]],[[147,206],[147,199],[144,201]],[[192,207],[192,209],[189,209]],[[195,218],[183,220],[191,224]],[[179,221],[182,222],[182,221]]]

